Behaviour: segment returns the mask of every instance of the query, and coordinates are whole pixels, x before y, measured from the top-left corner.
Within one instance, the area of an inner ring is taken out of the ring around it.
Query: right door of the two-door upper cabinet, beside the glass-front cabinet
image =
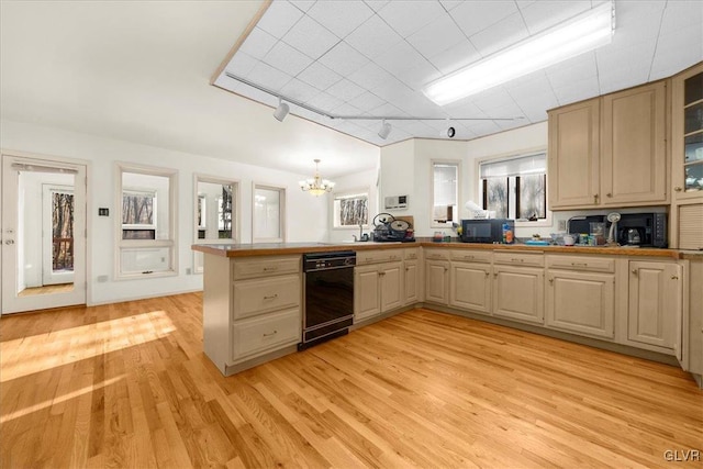
[[[601,191],[604,205],[666,202],[665,82],[603,97]]]

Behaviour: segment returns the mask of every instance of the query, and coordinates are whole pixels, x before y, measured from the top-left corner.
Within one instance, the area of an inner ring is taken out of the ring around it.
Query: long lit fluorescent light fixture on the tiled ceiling
[[[439,105],[610,44],[615,25],[611,2],[429,83],[423,92]]]

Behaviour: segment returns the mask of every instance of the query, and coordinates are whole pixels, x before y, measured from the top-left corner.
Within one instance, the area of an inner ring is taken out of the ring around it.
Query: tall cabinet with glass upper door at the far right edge
[[[671,79],[671,247],[703,250],[703,63]]]

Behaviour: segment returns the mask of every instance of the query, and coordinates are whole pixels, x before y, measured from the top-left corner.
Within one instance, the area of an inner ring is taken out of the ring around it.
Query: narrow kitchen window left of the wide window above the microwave
[[[432,175],[432,226],[451,226],[459,221],[459,164],[433,161]]]

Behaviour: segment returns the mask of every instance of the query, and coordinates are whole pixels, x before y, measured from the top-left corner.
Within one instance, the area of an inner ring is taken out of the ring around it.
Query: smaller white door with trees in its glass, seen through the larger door
[[[74,282],[75,210],[74,186],[42,185],[42,287]]]

